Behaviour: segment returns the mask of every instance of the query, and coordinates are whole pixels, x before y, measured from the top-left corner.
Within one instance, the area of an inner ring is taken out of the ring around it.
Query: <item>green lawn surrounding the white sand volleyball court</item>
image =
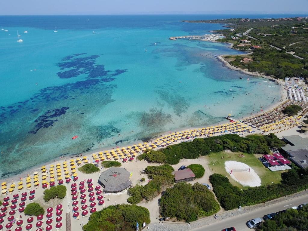
[[[239,154],[243,154],[245,155],[245,157],[239,157],[238,156]],[[261,163],[260,160],[257,159],[260,156],[261,155],[252,155],[252,154],[241,153],[241,152],[211,153],[210,155],[207,156],[209,160],[208,167],[211,170],[213,168],[213,172],[215,173],[220,173],[223,176],[227,176],[231,184],[239,188],[243,188],[243,189],[248,188],[248,187],[242,186],[241,184],[239,184],[238,182],[236,182],[230,177],[230,174],[227,173],[225,170],[225,161],[233,160],[233,161],[238,161],[238,162],[242,162],[242,163],[249,165],[251,168],[253,168],[253,170],[260,177],[262,185],[268,185],[268,184],[271,184],[272,182],[279,183],[281,181],[281,173],[283,171],[271,172],[268,168],[264,167],[264,165]]]

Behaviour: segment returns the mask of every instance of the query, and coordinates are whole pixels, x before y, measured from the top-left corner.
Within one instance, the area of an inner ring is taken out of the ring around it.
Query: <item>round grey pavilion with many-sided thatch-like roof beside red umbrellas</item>
[[[99,176],[99,183],[104,187],[104,193],[120,193],[132,186],[129,177],[130,172],[126,169],[111,167]]]

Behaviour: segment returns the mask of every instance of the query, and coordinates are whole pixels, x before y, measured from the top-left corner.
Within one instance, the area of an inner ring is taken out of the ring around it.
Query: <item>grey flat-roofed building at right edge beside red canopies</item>
[[[301,136],[283,136],[283,141],[287,143],[282,147],[289,159],[300,168],[308,167],[308,138]]]

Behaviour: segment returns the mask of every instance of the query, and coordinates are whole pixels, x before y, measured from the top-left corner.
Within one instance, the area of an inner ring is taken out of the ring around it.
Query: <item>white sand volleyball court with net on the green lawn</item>
[[[237,161],[226,161],[225,169],[230,174],[233,180],[237,181],[243,186],[250,186],[250,187],[261,186],[260,177],[247,164]],[[237,172],[234,170],[243,170],[243,171]]]

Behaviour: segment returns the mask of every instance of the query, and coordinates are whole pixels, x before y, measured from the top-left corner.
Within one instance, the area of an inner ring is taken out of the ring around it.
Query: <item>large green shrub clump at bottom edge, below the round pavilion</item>
[[[148,209],[137,205],[110,205],[92,213],[83,231],[135,231],[136,222],[140,228],[143,222],[150,223]]]

